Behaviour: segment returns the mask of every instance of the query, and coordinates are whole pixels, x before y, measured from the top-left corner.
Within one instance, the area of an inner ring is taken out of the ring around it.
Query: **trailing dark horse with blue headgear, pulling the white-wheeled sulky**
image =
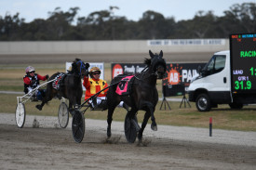
[[[60,89],[55,89],[52,83],[47,84],[47,91],[45,97],[42,99],[40,105],[35,107],[42,111],[42,108],[47,103],[47,101],[52,98],[67,98],[69,100],[69,111],[81,104],[81,98],[83,95],[83,88],[81,83],[81,78],[88,73],[88,63],[84,63],[81,59],[75,59],[72,63],[72,70],[68,73],[56,72],[54,73],[48,81],[55,79],[60,73],[62,73],[62,79],[60,84]]]

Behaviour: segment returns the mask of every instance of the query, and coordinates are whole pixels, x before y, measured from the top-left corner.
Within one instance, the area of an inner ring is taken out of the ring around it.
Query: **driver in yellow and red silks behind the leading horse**
[[[84,77],[83,85],[86,87],[86,95],[85,100],[92,97],[96,93],[100,92],[103,88],[107,87],[108,84],[106,81],[100,79],[101,76],[101,70],[98,67],[93,67],[89,71],[89,76]],[[92,105],[99,105],[101,104],[102,100],[106,99],[108,88],[104,91],[101,91],[98,98],[95,102],[92,102]],[[91,102],[91,101],[90,101]],[[94,106],[92,106],[94,107]]]

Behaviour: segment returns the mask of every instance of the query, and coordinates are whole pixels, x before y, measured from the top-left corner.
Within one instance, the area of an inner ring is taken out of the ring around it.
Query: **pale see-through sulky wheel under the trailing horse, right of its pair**
[[[66,128],[66,126],[69,124],[69,110],[65,102],[61,102],[61,105],[58,111],[58,118],[59,118],[59,124],[61,125],[61,127]]]

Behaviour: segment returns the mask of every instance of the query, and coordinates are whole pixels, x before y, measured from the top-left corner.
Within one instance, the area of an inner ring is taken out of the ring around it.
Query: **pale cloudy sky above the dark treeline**
[[[68,11],[70,7],[79,7],[77,17],[88,17],[91,12],[114,9],[115,16],[126,17],[138,21],[147,10],[162,14],[165,18],[173,17],[176,21],[191,20],[199,10],[211,10],[215,16],[221,17],[223,11],[234,4],[256,3],[256,0],[0,0],[0,16],[11,16],[20,13],[25,22],[49,17],[56,7]]]

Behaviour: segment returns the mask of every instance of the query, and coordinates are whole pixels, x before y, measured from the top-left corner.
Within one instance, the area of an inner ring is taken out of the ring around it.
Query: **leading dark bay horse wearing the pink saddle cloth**
[[[116,76],[110,85],[109,91],[107,93],[107,104],[108,104],[108,118],[107,118],[107,136],[111,137],[111,124],[113,120],[113,113],[115,107],[120,101],[124,101],[131,108],[128,111],[128,116],[131,119],[137,119],[136,113],[139,110],[146,111],[144,114],[144,119],[141,124],[141,128],[137,123],[138,138],[139,141],[142,139],[143,130],[151,117],[152,130],[157,130],[157,125],[155,123],[155,105],[158,101],[158,93],[156,90],[156,80],[162,79],[166,73],[166,61],[163,59],[163,51],[160,54],[153,54],[149,50],[149,55],[151,59],[145,59],[144,63],[147,65],[144,71],[135,75],[134,81],[131,86],[131,93],[129,95],[120,96],[115,93],[117,82],[120,82],[125,75],[121,74]],[[137,121],[136,121],[137,122]]]

